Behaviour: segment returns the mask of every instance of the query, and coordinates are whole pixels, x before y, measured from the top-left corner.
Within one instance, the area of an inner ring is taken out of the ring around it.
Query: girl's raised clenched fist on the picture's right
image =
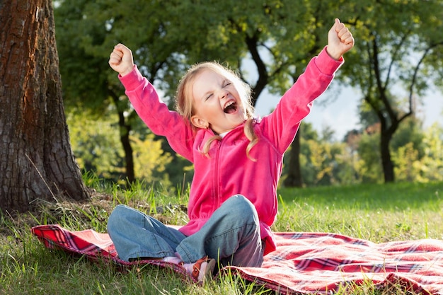
[[[326,50],[330,57],[336,60],[340,59],[345,52],[354,47],[354,43],[355,40],[350,30],[338,18],[335,18],[335,23],[328,32],[328,47]]]

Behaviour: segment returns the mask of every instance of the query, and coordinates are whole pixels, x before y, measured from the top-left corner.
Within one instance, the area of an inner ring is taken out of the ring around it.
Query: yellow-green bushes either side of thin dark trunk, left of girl
[[[96,173],[100,178],[122,181],[124,174],[123,151],[115,132],[117,116],[112,110],[98,120],[91,112],[69,112],[67,122],[71,134],[71,146],[81,169]],[[136,132],[130,135],[136,159],[135,173],[145,183],[160,181],[165,187],[168,181],[166,166],[171,162],[171,154],[161,148],[161,139],[154,134],[142,137]]]

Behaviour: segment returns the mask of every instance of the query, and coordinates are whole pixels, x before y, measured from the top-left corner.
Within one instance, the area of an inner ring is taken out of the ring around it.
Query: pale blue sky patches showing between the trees
[[[335,139],[341,141],[346,132],[361,129],[359,126],[357,105],[362,98],[352,88],[339,88],[331,83],[330,87],[314,102],[311,113],[304,119],[320,132],[326,126],[333,126]],[[277,105],[280,97],[265,92],[258,98],[255,111],[263,117]],[[423,120],[423,127],[430,127],[437,122],[443,126],[443,94],[437,90],[429,91],[422,98],[423,105],[417,109],[417,115]]]

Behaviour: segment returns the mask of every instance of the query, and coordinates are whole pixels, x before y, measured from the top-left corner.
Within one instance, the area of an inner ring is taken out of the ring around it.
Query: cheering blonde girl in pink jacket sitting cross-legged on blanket
[[[253,117],[251,88],[214,62],[189,69],[178,85],[177,112],[168,110],[134,65],[132,52],[116,45],[109,64],[139,117],[195,168],[190,221],[180,229],[125,205],[114,209],[108,232],[120,259],[178,263],[198,282],[212,274],[214,259],[221,266],[260,267],[276,246],[270,226],[284,151],[353,45],[352,34],[336,19],[328,45],[262,120]]]

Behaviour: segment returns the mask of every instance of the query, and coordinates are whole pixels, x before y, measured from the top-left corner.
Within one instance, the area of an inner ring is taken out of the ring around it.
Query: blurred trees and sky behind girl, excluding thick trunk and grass
[[[139,1],[56,2],[68,125],[82,170],[118,183],[175,187],[192,179],[192,166],[151,134],[127,104],[107,65],[115,43],[132,48],[135,62],[171,109],[185,69],[217,60],[251,84],[257,114],[264,116],[326,45],[338,17],[354,33],[356,46],[301,125],[299,151],[287,153],[282,185],[442,180],[442,33],[434,13],[441,4],[209,2],[182,2],[170,9],[161,1],[151,2],[151,8]],[[113,95],[103,93],[104,87]],[[119,142],[125,132],[133,150],[129,155]]]

